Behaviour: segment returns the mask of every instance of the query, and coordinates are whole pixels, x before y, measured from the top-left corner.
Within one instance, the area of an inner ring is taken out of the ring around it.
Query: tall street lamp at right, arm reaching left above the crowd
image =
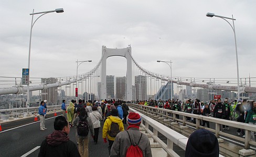
[[[224,17],[224,16],[219,16],[219,15],[215,15],[214,13],[207,13],[206,14],[207,17],[219,17],[219,18],[222,18],[223,20],[227,21],[227,23],[231,26],[233,32],[234,32],[234,44],[236,46],[236,59],[237,59],[237,99],[239,100],[240,99],[240,85],[239,85],[239,68],[238,68],[238,54],[237,54],[237,38],[236,38],[236,30],[234,29],[234,19],[233,18],[233,15],[232,15],[232,18],[230,17]],[[229,23],[228,20],[226,19],[231,19],[232,22],[233,22],[233,26]]]

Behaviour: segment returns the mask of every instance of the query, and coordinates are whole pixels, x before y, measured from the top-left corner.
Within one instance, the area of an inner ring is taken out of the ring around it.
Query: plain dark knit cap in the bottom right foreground
[[[190,156],[219,156],[219,142],[215,134],[205,129],[191,133],[185,151],[185,157]]]

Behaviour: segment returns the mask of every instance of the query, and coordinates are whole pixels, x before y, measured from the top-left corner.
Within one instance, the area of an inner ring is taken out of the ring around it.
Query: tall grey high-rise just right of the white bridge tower
[[[147,76],[138,75],[135,76],[135,88],[136,88],[136,99],[146,100],[147,99]]]

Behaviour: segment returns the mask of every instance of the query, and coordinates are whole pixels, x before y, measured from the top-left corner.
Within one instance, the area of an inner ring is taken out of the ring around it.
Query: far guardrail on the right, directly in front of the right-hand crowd
[[[127,104],[127,105],[129,105],[130,107],[136,108],[138,111],[155,114],[157,116],[163,117],[165,119],[170,119],[175,122],[178,121],[181,124],[183,124],[183,126],[195,127],[196,129],[201,129],[201,128],[207,129],[215,133],[217,138],[221,138],[220,136],[224,136],[225,138],[228,138],[230,140],[239,141],[244,144],[244,149],[250,149],[250,145],[254,147],[256,146],[256,142],[251,140],[251,131],[256,132],[255,125],[244,124],[242,122],[219,119],[214,117],[189,114],[189,113],[184,113],[182,111],[174,111],[174,110],[169,110],[164,108],[156,108],[156,107],[144,106],[144,105],[138,105],[138,104]],[[176,115],[182,116],[183,120],[177,119]],[[196,119],[196,124],[186,121],[186,117],[191,117]],[[205,121],[214,123],[216,129],[200,126],[200,120],[205,120]],[[226,132],[222,132],[220,131],[220,125],[228,125],[230,127],[244,129],[244,132],[246,133],[245,134],[246,137],[241,138]]]

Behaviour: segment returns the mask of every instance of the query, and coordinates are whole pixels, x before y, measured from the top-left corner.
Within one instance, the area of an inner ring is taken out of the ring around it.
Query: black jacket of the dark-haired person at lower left
[[[69,140],[66,132],[55,130],[42,141],[38,157],[41,156],[78,157],[80,154],[77,145]]]

